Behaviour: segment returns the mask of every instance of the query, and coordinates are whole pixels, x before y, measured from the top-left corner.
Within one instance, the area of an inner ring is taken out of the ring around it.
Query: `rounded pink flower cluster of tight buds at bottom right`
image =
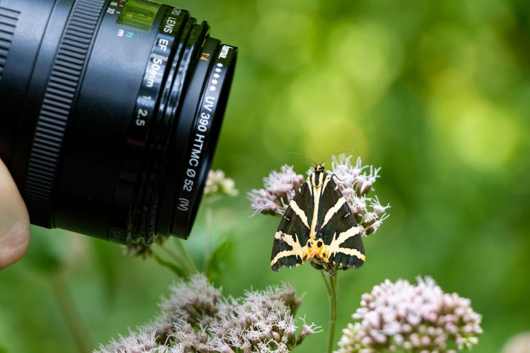
[[[363,295],[356,323],[343,330],[336,353],[456,352],[470,349],[482,333],[469,299],[444,293],[433,279],[413,286],[400,279]]]

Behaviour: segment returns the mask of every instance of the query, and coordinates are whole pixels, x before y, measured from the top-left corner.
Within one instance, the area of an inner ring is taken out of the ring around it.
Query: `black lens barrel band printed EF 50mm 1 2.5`
[[[182,58],[182,39],[187,38],[193,21],[187,11],[168,8],[153,43],[116,184],[110,236],[118,242],[123,242],[123,237],[125,242],[138,238],[149,242],[153,237],[157,209],[153,182],[168,136],[160,107],[167,103],[164,87],[173,81],[174,66]]]

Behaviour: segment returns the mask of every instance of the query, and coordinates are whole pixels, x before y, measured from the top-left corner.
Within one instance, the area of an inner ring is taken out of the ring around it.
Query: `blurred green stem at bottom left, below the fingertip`
[[[61,312],[63,312],[63,317],[66,321],[70,333],[76,341],[77,348],[80,353],[89,353],[90,346],[89,339],[87,337],[88,330],[85,330],[83,321],[76,310],[74,300],[68,292],[65,280],[61,273],[57,275],[50,276],[50,282],[54,290],[54,295],[61,307]]]

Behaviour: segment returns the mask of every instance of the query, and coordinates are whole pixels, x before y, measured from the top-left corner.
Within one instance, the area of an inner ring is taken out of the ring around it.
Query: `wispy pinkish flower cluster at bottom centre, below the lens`
[[[171,288],[153,323],[96,353],[286,353],[318,330],[305,321],[297,329],[293,315],[300,303],[287,285],[232,298],[204,275],[193,275]]]

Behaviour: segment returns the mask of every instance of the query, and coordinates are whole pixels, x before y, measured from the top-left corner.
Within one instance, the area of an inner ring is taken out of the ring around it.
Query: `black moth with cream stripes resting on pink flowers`
[[[318,164],[300,186],[274,237],[273,270],[311,259],[343,269],[364,264],[362,227],[333,177]]]

